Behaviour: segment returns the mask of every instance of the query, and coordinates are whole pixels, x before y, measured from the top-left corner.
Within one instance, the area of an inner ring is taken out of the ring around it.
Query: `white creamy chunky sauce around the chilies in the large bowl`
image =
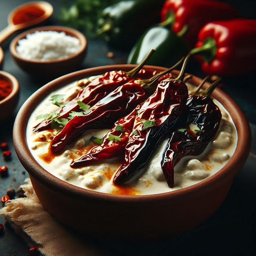
[[[237,144],[237,132],[231,116],[218,101],[214,100],[216,105],[222,112],[222,120],[218,133],[207,146],[204,153],[199,156],[186,156],[180,160],[175,166],[175,186],[168,187],[161,169],[161,160],[167,140],[163,141],[155,155],[148,164],[147,169],[142,173],[141,177],[129,186],[117,187],[112,184],[111,177],[118,169],[121,159],[115,158],[107,161],[99,162],[94,166],[83,168],[71,168],[72,159],[79,158],[86,153],[86,148],[92,145],[90,137],[104,137],[108,130],[98,129],[84,132],[74,141],[74,144],[68,145],[66,150],[61,154],[47,161],[49,155],[49,145],[56,134],[52,131],[42,131],[33,133],[33,127],[43,119],[36,119],[38,115],[52,113],[58,109],[52,104],[50,97],[54,94],[65,94],[67,97],[64,101],[69,101],[81,89],[79,83],[71,83],[60,90],[53,92],[34,110],[29,118],[27,126],[27,143],[29,149],[36,161],[52,175],[64,180],[68,183],[103,193],[115,193],[123,195],[148,195],[155,193],[165,193],[182,189],[217,173],[234,154]],[[187,84],[189,91],[193,90],[193,86]],[[190,127],[195,130],[196,127]],[[45,135],[46,140],[40,141],[40,136]],[[46,156],[46,157],[45,157]]]

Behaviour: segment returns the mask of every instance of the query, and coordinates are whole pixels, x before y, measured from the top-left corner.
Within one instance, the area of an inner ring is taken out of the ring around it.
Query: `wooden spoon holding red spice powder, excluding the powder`
[[[26,9],[29,10],[30,8],[36,8],[41,11],[43,11],[43,14],[39,16],[38,18],[33,18],[31,20],[18,23],[14,22],[13,20],[16,20],[18,16],[21,16],[21,13],[25,11]],[[2,31],[0,31],[0,44],[4,42],[11,34],[14,32],[24,29],[27,27],[31,27],[33,25],[37,25],[45,20],[47,20],[53,13],[53,7],[52,4],[45,2],[45,1],[34,1],[34,2],[28,2],[26,4],[22,4],[15,9],[13,9],[8,16],[8,26],[4,28]]]

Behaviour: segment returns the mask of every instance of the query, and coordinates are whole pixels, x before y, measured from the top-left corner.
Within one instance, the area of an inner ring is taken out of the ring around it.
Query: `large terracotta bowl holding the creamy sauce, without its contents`
[[[196,185],[154,195],[113,195],[71,185],[45,171],[31,155],[26,142],[27,121],[38,102],[73,81],[110,70],[128,71],[133,67],[110,65],[89,68],[47,83],[24,103],[13,129],[16,153],[45,208],[68,227],[104,239],[175,236],[204,222],[226,198],[235,175],[249,155],[251,144],[251,132],[243,112],[227,94],[216,88],[212,96],[231,114],[238,132],[238,144],[225,167]],[[164,70],[163,67],[146,67]],[[202,79],[195,76],[190,80],[194,85],[200,81]],[[209,86],[209,83],[206,85]]]

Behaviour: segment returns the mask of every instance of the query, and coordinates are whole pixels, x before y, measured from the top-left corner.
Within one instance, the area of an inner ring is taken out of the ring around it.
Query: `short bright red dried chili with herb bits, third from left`
[[[141,104],[130,114],[117,120],[100,145],[92,147],[86,155],[76,159],[70,166],[72,168],[81,168],[83,166],[90,166],[97,162],[101,162],[105,159],[123,155],[128,136],[130,132],[132,132],[135,117],[140,108]],[[111,139],[111,136],[115,137]]]

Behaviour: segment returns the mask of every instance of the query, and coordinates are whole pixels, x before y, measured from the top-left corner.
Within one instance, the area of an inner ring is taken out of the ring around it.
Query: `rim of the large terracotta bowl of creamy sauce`
[[[121,64],[121,65],[107,65],[100,67],[92,67],[85,70],[79,70],[76,72],[72,72],[70,74],[66,74],[61,76],[53,81],[47,83],[43,87],[39,88],[34,94],[32,94],[27,101],[20,108],[16,120],[13,126],[13,143],[18,158],[20,159],[21,164],[26,168],[29,175],[34,177],[38,182],[43,184],[49,189],[54,191],[58,191],[63,195],[67,196],[76,196],[77,198],[88,198],[90,200],[99,200],[104,202],[115,202],[115,203],[124,203],[124,202],[132,202],[134,204],[141,204],[143,202],[155,202],[155,201],[165,201],[165,200],[181,200],[183,197],[192,197],[195,194],[200,194],[202,189],[204,191],[209,191],[215,186],[215,182],[213,180],[217,180],[218,182],[224,182],[225,180],[233,180],[234,176],[240,171],[243,164],[245,163],[251,146],[251,131],[249,127],[249,123],[245,118],[242,110],[238,107],[231,97],[229,97],[225,92],[223,92],[220,88],[216,88],[212,97],[216,98],[222,105],[227,108],[229,111],[237,129],[238,133],[238,141],[237,148],[234,152],[234,155],[229,159],[229,162],[223,168],[220,169],[216,174],[211,177],[203,180],[197,184],[186,187],[184,189],[178,189],[175,191],[170,191],[166,193],[159,194],[151,194],[151,195],[114,195],[108,193],[101,193],[97,191],[91,191],[88,189],[80,188],[78,186],[69,184],[63,180],[60,180],[58,177],[48,173],[44,168],[42,168],[32,156],[30,150],[27,149],[27,142],[25,139],[27,121],[31,112],[34,110],[36,106],[34,103],[36,98],[39,97],[40,101],[44,99],[49,93],[56,90],[57,88],[61,88],[61,86],[65,86],[68,83],[72,83],[73,81],[77,81],[85,78],[86,76],[94,76],[97,74],[103,74],[107,71],[111,70],[125,70],[128,71],[135,67],[136,65],[132,64]],[[157,67],[152,65],[145,65],[144,68],[150,68],[155,70],[166,70],[166,67]],[[174,71],[177,72],[177,71]],[[199,84],[202,79],[197,76],[193,76],[190,80],[190,83],[194,84],[195,81],[198,81],[196,84]],[[209,83],[206,82],[204,87],[209,86]],[[28,111],[28,112],[27,112]],[[26,114],[25,114],[26,112]],[[22,126],[23,124],[23,126]],[[25,125],[24,125],[25,124]],[[238,159],[242,159],[242,161],[238,161]],[[34,160],[34,162],[33,162]],[[232,172],[232,170],[236,170],[236,172]],[[40,170],[40,172],[35,171]]]

